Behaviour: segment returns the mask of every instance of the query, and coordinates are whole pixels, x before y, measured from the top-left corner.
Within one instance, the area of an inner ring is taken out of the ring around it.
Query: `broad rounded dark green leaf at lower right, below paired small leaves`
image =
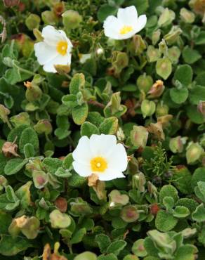
[[[167,232],[172,230],[176,224],[178,223],[178,220],[172,216],[171,214],[165,212],[164,210],[159,210],[157,212],[157,217],[155,219],[155,226],[156,228],[161,232]]]

